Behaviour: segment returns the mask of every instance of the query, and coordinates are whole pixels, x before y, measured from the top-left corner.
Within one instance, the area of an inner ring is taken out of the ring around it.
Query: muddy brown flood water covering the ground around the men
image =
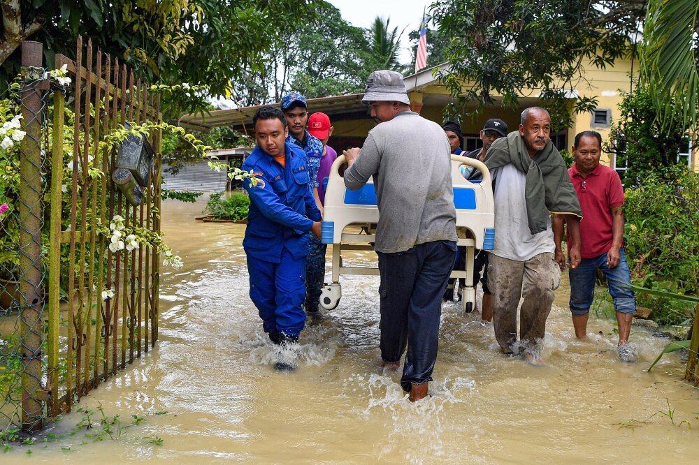
[[[565,279],[545,367],[505,357],[477,313],[444,304],[432,397],[411,404],[400,374],[380,369],[378,277],[343,276],[338,308],[301,334],[296,371],[276,372],[247,295],[245,226],[195,221],[204,204],[163,204],[185,267],[161,270],[157,347],[80,401],[124,426],[143,422],[96,441],[70,434],[85,415],[75,406],[48,428],[57,441],[14,446],[1,463],[696,463],[699,391],[675,354],[644,371],[668,339],[633,327],[639,362],[624,364],[614,323],[591,316],[589,340],[577,341]]]

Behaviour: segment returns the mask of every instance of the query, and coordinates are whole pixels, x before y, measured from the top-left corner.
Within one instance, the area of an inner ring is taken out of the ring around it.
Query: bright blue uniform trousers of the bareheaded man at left
[[[303,330],[305,312],[305,257],[294,259],[285,247],[280,263],[247,256],[250,274],[250,299],[262,318],[266,333],[283,332],[298,336]]]

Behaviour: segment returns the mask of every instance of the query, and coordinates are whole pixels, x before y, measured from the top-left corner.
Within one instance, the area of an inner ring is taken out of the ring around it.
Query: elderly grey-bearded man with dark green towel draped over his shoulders
[[[580,262],[580,204],[550,135],[549,112],[527,108],[519,131],[493,142],[484,161],[495,182],[495,246],[488,258],[495,337],[504,353],[524,350],[524,360],[534,366],[543,364],[546,319],[561,282],[552,213],[568,224],[570,267]]]

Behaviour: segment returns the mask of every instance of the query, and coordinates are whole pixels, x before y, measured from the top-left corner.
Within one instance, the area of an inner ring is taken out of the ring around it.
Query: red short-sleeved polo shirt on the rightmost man
[[[612,247],[612,208],[624,205],[624,187],[617,172],[605,165],[597,165],[582,177],[573,163],[568,175],[582,209],[580,255],[595,258]]]

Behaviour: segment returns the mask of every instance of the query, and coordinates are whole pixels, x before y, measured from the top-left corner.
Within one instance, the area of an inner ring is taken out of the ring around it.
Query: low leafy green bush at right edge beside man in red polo
[[[669,175],[669,176],[668,176]],[[699,288],[699,173],[669,168],[647,173],[626,189],[626,253],[633,283],[645,288],[696,294]],[[639,295],[658,323],[681,323],[691,316],[684,304]]]

